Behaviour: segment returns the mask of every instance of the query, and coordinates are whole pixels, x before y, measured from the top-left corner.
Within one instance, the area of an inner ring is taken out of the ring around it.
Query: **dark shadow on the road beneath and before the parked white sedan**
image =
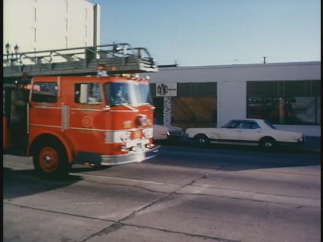
[[[162,146],[159,156],[147,162],[231,171],[321,165],[320,153],[307,151],[301,145],[265,150],[259,146],[224,144],[210,144],[202,148],[189,140],[176,144],[158,143]]]

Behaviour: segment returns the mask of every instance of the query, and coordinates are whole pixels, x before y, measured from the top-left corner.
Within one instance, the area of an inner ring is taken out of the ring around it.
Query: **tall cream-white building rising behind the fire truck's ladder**
[[[85,0],[4,0],[3,53],[100,44],[100,5]]]

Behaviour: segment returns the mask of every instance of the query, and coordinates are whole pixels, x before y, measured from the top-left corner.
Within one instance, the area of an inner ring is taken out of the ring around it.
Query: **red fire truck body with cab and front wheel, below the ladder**
[[[65,174],[76,163],[121,165],[158,153],[148,76],[36,76],[4,90],[3,147],[33,156],[42,176]],[[17,90],[25,92],[23,123],[10,118]]]

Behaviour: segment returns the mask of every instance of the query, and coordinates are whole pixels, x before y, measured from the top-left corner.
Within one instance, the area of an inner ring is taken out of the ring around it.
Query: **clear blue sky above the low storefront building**
[[[320,0],[90,0],[101,44],[146,47],[180,66],[320,61]],[[234,61],[234,59],[237,59]]]

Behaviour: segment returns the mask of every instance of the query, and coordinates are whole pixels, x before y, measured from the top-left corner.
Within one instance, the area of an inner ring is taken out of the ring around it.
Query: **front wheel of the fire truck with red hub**
[[[37,142],[33,152],[33,163],[37,173],[43,178],[65,176],[71,167],[65,148],[56,140]]]

